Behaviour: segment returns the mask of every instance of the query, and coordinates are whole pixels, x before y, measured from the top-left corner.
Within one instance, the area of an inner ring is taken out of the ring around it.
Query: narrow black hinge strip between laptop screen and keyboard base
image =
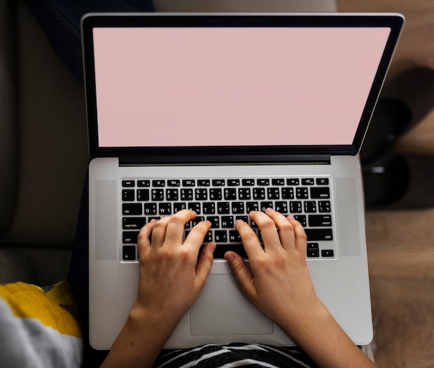
[[[119,166],[148,165],[272,165],[330,164],[329,154],[309,155],[187,155],[187,156],[121,156]]]

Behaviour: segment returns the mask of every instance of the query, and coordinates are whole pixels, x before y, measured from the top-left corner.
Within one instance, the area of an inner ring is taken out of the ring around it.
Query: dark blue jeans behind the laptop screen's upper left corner
[[[24,0],[71,73],[83,82],[80,19],[87,12],[152,12],[152,0]]]

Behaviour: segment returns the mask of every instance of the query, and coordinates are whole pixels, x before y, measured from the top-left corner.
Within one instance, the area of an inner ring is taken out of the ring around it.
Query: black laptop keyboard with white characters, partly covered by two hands
[[[247,258],[235,221],[250,224],[261,240],[261,231],[248,217],[252,210],[273,208],[293,215],[304,226],[308,259],[336,257],[333,241],[330,178],[204,178],[122,179],[123,262],[137,262],[137,235],[152,219],[189,208],[198,217],[185,226],[184,236],[198,221],[208,220],[211,229],[205,243],[217,244],[214,258],[232,250]]]

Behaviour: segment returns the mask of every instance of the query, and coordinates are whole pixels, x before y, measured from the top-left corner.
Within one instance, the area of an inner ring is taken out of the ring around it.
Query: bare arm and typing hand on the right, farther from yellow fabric
[[[250,302],[275,321],[319,367],[375,367],[318,299],[306,264],[302,225],[271,209],[252,212],[250,218],[261,229],[264,249],[248,224],[237,221],[236,228],[251,270],[236,253],[225,254]]]

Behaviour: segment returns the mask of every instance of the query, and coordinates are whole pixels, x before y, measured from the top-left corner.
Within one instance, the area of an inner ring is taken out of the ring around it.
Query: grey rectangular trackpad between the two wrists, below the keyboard
[[[243,296],[232,274],[209,275],[190,310],[191,335],[258,335],[272,333],[263,317]]]

